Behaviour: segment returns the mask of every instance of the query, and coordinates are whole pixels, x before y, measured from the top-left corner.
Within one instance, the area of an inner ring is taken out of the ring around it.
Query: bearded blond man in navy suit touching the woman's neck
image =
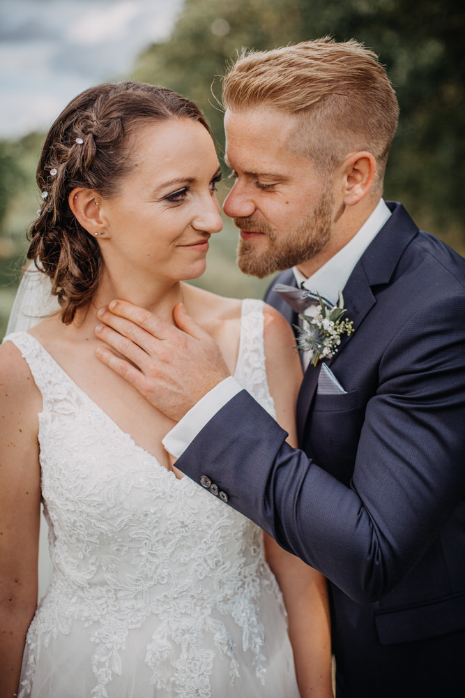
[[[146,363],[105,362],[174,419],[190,410],[164,442],[177,468],[328,577],[337,698],[464,696],[465,262],[381,198],[397,101],[363,46],[249,54],[224,105],[241,269],[287,269],[304,299],[267,300],[293,325],[306,289],[342,291],[353,322],[333,357],[303,357],[302,450],[180,307],[184,332],[116,303],[102,317],[144,328]]]

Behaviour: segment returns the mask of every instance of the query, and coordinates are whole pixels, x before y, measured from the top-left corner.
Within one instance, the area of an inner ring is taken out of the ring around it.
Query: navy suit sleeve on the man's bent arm
[[[208,475],[229,505],[359,602],[388,593],[439,535],[465,491],[465,297],[410,318],[379,362],[350,487],[242,391],[176,467]]]

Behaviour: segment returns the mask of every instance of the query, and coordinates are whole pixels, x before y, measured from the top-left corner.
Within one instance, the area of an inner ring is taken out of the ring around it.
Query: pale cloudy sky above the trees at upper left
[[[48,131],[79,92],[128,75],[183,0],[1,0],[0,138]]]

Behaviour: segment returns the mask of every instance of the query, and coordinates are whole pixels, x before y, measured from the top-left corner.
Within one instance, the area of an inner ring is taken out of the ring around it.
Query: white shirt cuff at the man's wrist
[[[210,419],[242,389],[232,376],[215,385],[162,439],[167,452],[179,458]]]

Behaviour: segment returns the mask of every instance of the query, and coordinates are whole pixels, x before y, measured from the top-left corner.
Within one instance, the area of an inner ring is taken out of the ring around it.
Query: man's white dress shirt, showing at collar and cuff
[[[317,290],[328,300],[336,303],[338,292],[344,288],[358,260],[390,215],[386,203],[380,199],[356,235],[312,276],[307,279],[297,267],[294,267],[293,272],[298,285],[303,285],[309,290]],[[179,458],[210,419],[241,390],[241,385],[232,376],[215,385],[167,433],[162,440],[165,449]]]

